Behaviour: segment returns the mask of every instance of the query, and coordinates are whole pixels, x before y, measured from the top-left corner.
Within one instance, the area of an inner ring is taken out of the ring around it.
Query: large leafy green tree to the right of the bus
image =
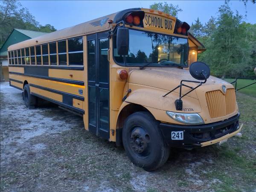
[[[215,76],[250,76],[255,67],[256,25],[243,22],[226,2],[218,10],[215,26],[199,59],[209,64]]]

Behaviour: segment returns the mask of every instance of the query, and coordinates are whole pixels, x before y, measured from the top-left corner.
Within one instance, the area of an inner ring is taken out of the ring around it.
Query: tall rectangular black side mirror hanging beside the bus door
[[[118,55],[128,55],[129,50],[129,29],[119,27],[117,29],[116,48]]]

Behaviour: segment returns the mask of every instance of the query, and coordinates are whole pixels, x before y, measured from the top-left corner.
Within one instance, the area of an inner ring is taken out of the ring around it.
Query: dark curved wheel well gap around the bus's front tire
[[[142,105],[131,103],[129,105],[126,105],[122,111],[119,113],[117,122],[116,122],[116,145],[121,146],[122,145],[122,128],[124,126],[125,119],[131,115],[132,113],[138,112],[138,111],[148,111],[145,107]]]

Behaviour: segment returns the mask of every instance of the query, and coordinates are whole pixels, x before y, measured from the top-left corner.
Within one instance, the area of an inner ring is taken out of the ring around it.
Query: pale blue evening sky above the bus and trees
[[[64,29],[79,23],[109,15],[123,9],[129,8],[149,8],[154,2],[149,0],[132,1],[69,1],[69,0],[22,0],[23,7],[29,9],[29,12],[35,16],[35,19],[41,24],[51,24],[57,30]],[[173,5],[178,5],[182,12],[179,12],[178,19],[191,24],[197,17],[201,23],[206,23],[211,16],[216,16],[218,7],[224,4],[224,0],[172,0],[166,1]],[[248,1],[245,9],[244,3],[240,0],[230,1],[230,7],[240,15],[247,17],[244,20],[248,23],[256,23],[256,4]]]

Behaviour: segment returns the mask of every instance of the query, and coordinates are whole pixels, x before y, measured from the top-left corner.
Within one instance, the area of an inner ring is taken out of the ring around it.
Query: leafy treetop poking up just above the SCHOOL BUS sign
[[[150,9],[159,10],[164,13],[168,13],[174,17],[177,17],[178,12],[182,12],[182,9],[179,9],[179,6],[174,6],[172,3],[168,4],[167,2],[163,3],[154,3],[150,6]]]

